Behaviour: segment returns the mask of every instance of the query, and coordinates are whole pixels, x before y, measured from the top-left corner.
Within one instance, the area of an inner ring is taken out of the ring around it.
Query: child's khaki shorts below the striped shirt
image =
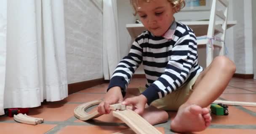
[[[166,95],[164,98],[157,99],[151,103],[158,109],[166,111],[177,111],[181,104],[185,103],[191,93],[193,92],[193,85],[200,74],[195,75],[189,82],[185,83],[179,89],[173,91],[172,93]],[[142,93],[146,88],[139,87],[139,92]]]

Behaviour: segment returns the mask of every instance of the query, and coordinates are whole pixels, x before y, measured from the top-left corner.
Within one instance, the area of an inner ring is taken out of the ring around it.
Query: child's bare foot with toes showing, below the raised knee
[[[171,129],[176,132],[203,131],[211,124],[208,108],[197,105],[181,106],[173,121]]]

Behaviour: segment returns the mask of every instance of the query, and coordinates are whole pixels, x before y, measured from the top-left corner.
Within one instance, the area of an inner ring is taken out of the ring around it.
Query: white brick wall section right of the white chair
[[[250,0],[234,0],[233,17],[237,21],[234,27],[234,60],[236,73],[253,74],[252,25]],[[250,14],[250,15],[248,15]]]

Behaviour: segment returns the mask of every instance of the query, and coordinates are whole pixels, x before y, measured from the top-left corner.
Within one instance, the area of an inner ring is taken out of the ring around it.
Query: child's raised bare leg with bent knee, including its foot
[[[206,107],[221,95],[234,73],[235,64],[232,61],[224,56],[216,57],[198,76],[193,93],[180,106],[171,129],[186,132],[202,131],[208,127],[211,115]]]

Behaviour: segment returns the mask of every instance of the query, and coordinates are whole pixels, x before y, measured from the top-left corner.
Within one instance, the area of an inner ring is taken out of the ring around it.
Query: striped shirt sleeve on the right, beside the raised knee
[[[189,73],[197,59],[197,44],[195,33],[187,27],[177,27],[184,31],[181,37],[174,36],[176,43],[171,51],[171,58],[164,73],[153,82],[142,94],[146,96],[148,104],[163,98],[186,82]]]

